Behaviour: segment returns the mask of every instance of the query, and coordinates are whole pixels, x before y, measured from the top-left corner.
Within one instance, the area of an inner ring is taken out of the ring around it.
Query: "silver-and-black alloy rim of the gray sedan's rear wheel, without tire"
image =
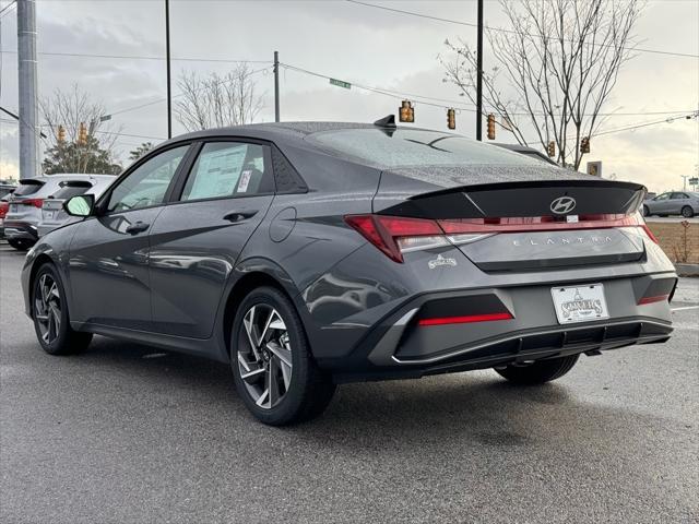
[[[247,336],[239,336],[238,372],[254,401],[275,407],[292,383],[292,347],[286,324],[272,306],[252,306],[242,318]]]

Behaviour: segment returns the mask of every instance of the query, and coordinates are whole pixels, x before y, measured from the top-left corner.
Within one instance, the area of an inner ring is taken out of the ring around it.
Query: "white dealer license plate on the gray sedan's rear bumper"
[[[602,284],[574,287],[553,287],[556,318],[559,324],[592,322],[609,318]]]

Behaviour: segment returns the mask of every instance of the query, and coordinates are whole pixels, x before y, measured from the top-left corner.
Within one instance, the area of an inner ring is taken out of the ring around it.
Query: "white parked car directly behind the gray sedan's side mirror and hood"
[[[78,221],[66,213],[63,202],[84,193],[92,193],[98,198],[116,179],[114,175],[90,175],[88,179],[70,179],[61,182],[60,189],[45,199],[42,204],[42,221],[37,225],[39,238],[57,227]]]

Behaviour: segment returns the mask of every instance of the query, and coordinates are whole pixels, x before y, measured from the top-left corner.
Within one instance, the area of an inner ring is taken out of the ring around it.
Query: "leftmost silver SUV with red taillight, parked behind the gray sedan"
[[[60,174],[20,180],[4,218],[8,243],[19,250],[34,246],[38,239],[44,200],[56,194],[69,181],[90,181],[92,177],[94,175]]]

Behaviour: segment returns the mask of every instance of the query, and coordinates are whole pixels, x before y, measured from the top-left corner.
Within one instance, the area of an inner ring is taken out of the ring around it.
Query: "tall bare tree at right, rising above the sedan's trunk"
[[[484,114],[499,115],[523,145],[553,141],[562,166],[578,169],[624,62],[633,56],[639,0],[500,0],[511,28],[486,29],[498,66],[483,72]],[[475,104],[476,53],[446,41],[445,82]],[[503,91],[502,83],[509,84]],[[511,92],[510,96],[508,93]],[[533,128],[535,138],[525,133]]]

